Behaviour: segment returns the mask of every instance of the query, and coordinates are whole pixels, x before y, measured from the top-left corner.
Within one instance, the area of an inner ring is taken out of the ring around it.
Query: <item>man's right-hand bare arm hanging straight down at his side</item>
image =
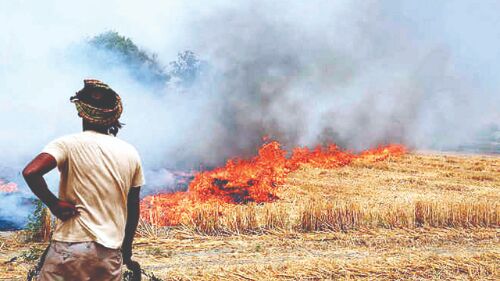
[[[125,237],[122,243],[123,263],[133,270],[131,267],[138,266],[132,258],[132,242],[134,241],[135,231],[139,223],[140,215],[140,187],[130,189],[127,196],[127,224],[125,226]]]

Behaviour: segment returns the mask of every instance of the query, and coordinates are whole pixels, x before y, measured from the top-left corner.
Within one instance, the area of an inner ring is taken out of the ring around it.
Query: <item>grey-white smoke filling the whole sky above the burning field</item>
[[[119,137],[154,190],[175,181],[165,169],[248,156],[264,136],[454,149],[500,125],[497,1],[28,2],[0,4],[0,167],[17,173],[80,130],[68,99],[87,77],[123,97]],[[189,86],[150,87],[92,61],[86,42],[107,30],[164,65],[192,50],[207,67]]]

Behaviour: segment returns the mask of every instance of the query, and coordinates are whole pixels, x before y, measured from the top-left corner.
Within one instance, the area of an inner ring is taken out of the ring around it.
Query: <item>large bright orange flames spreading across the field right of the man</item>
[[[359,161],[381,161],[406,152],[402,145],[388,145],[353,154],[336,145],[318,146],[287,151],[280,143],[264,144],[252,159],[231,159],[224,167],[196,174],[187,192],[158,194],[145,197],[141,202],[141,215],[156,225],[177,225],[182,216],[199,203],[244,204],[264,203],[278,199],[276,188],[285,182],[286,176],[301,165],[319,168],[337,168]]]

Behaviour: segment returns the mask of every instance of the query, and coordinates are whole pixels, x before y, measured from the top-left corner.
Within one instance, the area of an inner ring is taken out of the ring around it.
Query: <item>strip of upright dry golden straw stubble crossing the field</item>
[[[205,204],[185,216],[183,227],[203,235],[240,235],[276,231],[349,231],[360,228],[500,226],[500,208],[492,201],[419,200],[370,207],[361,202],[310,199],[295,207],[287,204]],[[141,222],[140,232],[156,236],[156,228]]]

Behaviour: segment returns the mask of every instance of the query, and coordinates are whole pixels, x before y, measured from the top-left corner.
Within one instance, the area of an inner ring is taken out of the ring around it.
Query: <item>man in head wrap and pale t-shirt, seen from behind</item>
[[[59,219],[39,280],[118,281],[122,262],[138,267],[131,256],[144,184],[141,161],[115,137],[122,102],[108,85],[84,80],[71,101],[83,132],[52,141],[23,170],[30,189]],[[59,198],[43,178],[55,167]]]

